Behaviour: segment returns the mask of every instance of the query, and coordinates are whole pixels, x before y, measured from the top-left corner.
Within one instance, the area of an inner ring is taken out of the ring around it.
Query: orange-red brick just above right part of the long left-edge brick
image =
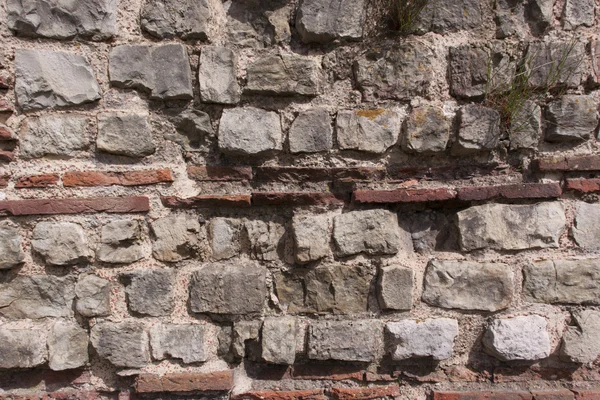
[[[168,168],[124,172],[67,172],[63,175],[63,185],[65,187],[111,185],[141,186],[165,182],[173,182],[171,170]]]

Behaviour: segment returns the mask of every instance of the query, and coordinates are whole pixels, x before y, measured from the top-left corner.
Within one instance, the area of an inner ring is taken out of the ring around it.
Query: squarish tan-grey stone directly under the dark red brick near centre
[[[351,211],[333,219],[333,241],[340,257],[396,254],[401,233],[398,217],[386,210]]]

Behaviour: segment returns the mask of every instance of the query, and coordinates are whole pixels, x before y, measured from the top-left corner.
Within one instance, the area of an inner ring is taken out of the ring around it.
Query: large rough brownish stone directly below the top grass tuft
[[[367,101],[427,97],[435,81],[434,58],[431,49],[418,43],[400,45],[383,56],[366,54],[354,63],[358,87]]]

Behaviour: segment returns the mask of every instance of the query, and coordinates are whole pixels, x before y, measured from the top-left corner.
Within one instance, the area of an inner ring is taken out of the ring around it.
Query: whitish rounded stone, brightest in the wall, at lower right
[[[539,315],[494,320],[483,335],[483,345],[503,361],[541,360],[551,350],[546,319]]]

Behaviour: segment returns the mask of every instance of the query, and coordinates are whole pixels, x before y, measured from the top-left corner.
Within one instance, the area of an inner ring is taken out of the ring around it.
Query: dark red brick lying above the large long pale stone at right
[[[560,197],[562,189],[556,182],[519,183],[500,186],[469,186],[458,188],[459,200],[546,199]]]

